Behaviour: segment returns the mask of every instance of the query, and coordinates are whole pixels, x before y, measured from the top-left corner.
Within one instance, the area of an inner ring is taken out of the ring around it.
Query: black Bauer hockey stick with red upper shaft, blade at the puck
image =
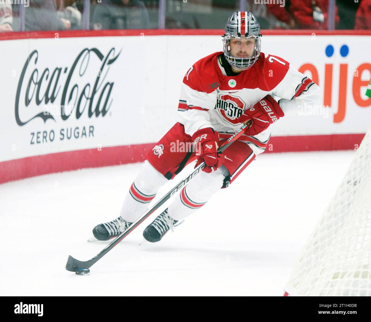
[[[236,133],[234,133],[229,139],[224,141],[224,143],[219,147],[218,152],[223,152],[229,145],[235,142],[242,134],[252,125],[252,121],[249,120],[246,124],[240,127]],[[198,165],[192,173],[190,173],[187,177],[185,177],[181,182],[179,182],[173,189],[171,189],[165,196],[163,196],[158,202],[156,202],[152,208],[148,209],[142,216],[140,216],[135,222],[133,222],[126,230],[124,230],[120,235],[118,235],[114,240],[112,240],[109,245],[107,245],[100,253],[95,255],[92,259],[87,260],[86,262],[81,262],[73,258],[72,256],[68,256],[66,270],[70,272],[75,272],[78,268],[87,269],[90,268],[93,264],[95,264],[99,259],[101,259],[106,253],[108,253],[112,248],[114,248],[122,239],[124,239],[129,233],[131,233],[138,225],[145,220],[148,216],[150,216],[155,210],[157,210],[161,205],[163,205],[174,193],[178,192],[181,188],[183,188],[187,183],[197,175],[205,167],[205,162],[202,162]]]

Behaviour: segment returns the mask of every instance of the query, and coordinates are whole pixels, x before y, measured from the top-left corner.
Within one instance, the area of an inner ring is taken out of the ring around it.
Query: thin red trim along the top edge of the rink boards
[[[263,36],[371,36],[371,30],[262,30]],[[120,36],[221,36],[222,29],[68,30],[0,33],[0,40]]]

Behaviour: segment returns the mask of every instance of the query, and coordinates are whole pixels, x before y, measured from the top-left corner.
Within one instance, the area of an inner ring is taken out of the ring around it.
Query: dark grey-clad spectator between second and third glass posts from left
[[[148,12],[139,0],[105,0],[97,3],[93,29],[148,29]]]

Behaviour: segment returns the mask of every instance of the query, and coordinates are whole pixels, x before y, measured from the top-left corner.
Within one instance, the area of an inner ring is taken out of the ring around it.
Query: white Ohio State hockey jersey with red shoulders
[[[237,74],[223,52],[213,53],[193,64],[184,76],[178,105],[180,123],[191,136],[211,127],[227,138],[242,126],[237,119],[243,111],[268,94],[279,99],[285,114],[319,104],[319,87],[280,57],[260,53],[250,69]],[[257,155],[265,150],[269,137],[268,128],[241,140]]]

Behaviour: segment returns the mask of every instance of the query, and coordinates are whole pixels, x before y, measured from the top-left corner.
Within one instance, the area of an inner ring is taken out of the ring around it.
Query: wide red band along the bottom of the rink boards
[[[363,137],[364,134],[276,136],[270,138],[265,153],[351,150],[359,146]],[[112,146],[3,161],[0,162],[0,183],[82,168],[142,162],[154,145]]]

